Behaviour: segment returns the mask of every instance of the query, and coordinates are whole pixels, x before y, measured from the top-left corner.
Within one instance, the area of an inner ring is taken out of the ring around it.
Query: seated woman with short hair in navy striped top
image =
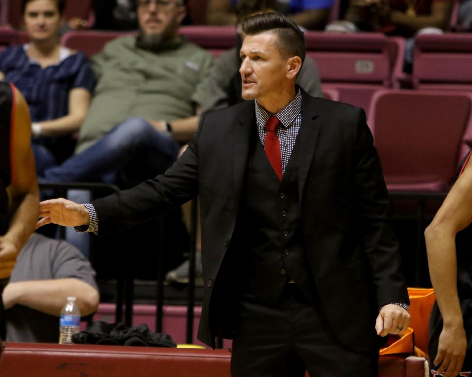
[[[33,151],[38,174],[69,157],[89,108],[95,85],[81,52],[59,45],[65,0],[25,0],[23,17],[31,40],[0,54],[0,79],[22,92],[33,121]]]

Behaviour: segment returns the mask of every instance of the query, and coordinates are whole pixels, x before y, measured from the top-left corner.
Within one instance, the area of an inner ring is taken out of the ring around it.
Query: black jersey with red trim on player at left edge
[[[8,194],[11,183],[11,127],[13,91],[8,83],[0,82],[0,235],[8,227]]]

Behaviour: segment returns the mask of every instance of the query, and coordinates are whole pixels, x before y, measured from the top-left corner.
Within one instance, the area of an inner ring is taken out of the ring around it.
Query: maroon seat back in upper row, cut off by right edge
[[[472,34],[416,38],[413,85],[417,89],[472,91]]]

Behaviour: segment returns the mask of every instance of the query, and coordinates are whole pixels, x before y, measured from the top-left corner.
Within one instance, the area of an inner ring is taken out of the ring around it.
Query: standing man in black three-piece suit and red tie
[[[246,19],[241,104],[202,116],[164,175],[50,222],[110,233],[200,197],[199,339],[233,339],[233,376],[377,376],[380,337],[409,323],[388,193],[362,109],[295,86],[303,33]]]

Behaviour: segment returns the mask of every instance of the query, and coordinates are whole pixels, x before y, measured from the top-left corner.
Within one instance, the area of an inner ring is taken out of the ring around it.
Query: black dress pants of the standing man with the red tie
[[[346,316],[346,325],[355,326]],[[287,284],[276,305],[240,295],[232,377],[303,377],[306,370],[310,377],[377,377],[378,358],[346,348],[318,301],[308,304],[295,284]]]

